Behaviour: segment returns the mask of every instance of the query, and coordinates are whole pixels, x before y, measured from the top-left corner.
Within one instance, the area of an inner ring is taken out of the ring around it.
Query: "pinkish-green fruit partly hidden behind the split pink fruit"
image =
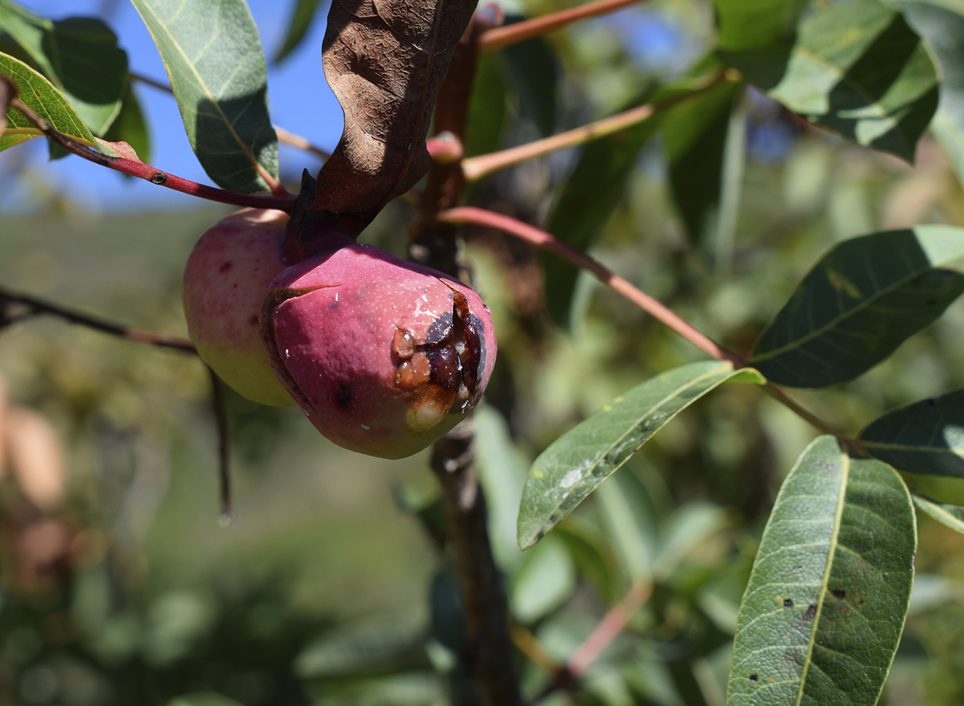
[[[238,393],[261,404],[293,405],[258,333],[271,281],[288,267],[283,211],[245,208],[201,235],[181,290],[191,340],[201,360]]]

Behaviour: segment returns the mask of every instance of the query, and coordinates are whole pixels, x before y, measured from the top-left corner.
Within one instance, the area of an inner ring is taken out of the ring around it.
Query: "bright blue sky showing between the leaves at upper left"
[[[51,18],[70,15],[102,15],[127,51],[130,69],[136,73],[166,81],[167,76],[157,49],[134,7],[125,0],[18,0],[37,14]],[[287,28],[294,0],[249,0],[261,42],[268,56],[280,45]],[[308,137],[325,149],[332,149],[341,135],[341,108],[325,83],[321,68],[323,17],[316,18],[310,33],[298,50],[280,67],[268,66],[268,100],[272,122]],[[138,84],[135,88],[147,114],[153,153],[151,164],[177,176],[211,183],[204,174],[184,134],[184,127],[172,95]],[[125,178],[79,157],[69,156],[47,162],[42,140],[0,153],[0,172],[4,163],[27,156],[35,171],[36,182],[67,192],[74,201],[97,210],[128,208],[189,208],[197,203],[193,197],[150,184],[141,179]],[[16,155],[18,150],[27,154]],[[314,171],[319,162],[297,149],[281,146],[282,173],[300,174],[302,168]],[[35,182],[35,183],[36,183]],[[26,187],[19,187],[24,189]],[[30,193],[8,192],[0,197],[3,210],[21,210],[33,199]]]

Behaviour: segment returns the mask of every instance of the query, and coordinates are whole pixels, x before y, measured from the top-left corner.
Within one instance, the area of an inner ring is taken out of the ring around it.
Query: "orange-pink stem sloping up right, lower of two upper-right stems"
[[[483,37],[485,36],[486,35],[483,35]],[[549,152],[555,151],[556,149],[576,147],[577,145],[583,145],[592,140],[598,140],[606,135],[611,135],[614,132],[626,129],[631,125],[649,120],[655,113],[663,111],[694,95],[705,93],[724,80],[729,80],[727,72],[718,71],[714,73],[708,81],[704,82],[703,85],[692,91],[673,95],[655,103],[647,103],[646,105],[630,108],[617,115],[603,118],[603,120],[590,122],[587,125],[582,125],[581,127],[567,130],[566,132],[560,132],[558,135],[551,135],[542,140],[535,140],[525,145],[520,145],[519,147],[501,149],[497,152],[469,157],[469,159],[465,159],[462,162],[462,173],[465,175],[466,180],[474,181],[482,176],[492,174],[497,170],[511,167],[514,164],[519,164],[526,160],[542,156],[543,154],[549,154]]]

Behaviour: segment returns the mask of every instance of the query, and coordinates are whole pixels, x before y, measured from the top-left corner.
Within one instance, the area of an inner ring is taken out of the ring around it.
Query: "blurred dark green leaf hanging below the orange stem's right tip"
[[[697,95],[662,122],[673,198],[694,242],[710,239],[718,222],[730,114],[742,88],[724,84]]]

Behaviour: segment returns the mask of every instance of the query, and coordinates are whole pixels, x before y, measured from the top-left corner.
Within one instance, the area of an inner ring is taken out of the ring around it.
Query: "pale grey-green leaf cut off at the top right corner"
[[[941,65],[941,100],[930,131],[964,184],[964,5],[956,5],[956,10],[940,0],[897,0],[897,5]]]

